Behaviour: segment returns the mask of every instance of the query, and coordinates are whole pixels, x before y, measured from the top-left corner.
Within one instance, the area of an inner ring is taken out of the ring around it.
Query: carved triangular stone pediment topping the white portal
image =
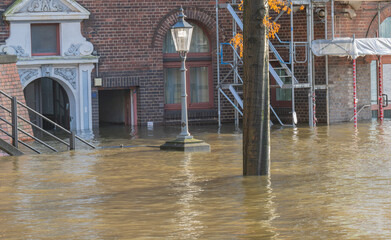
[[[19,0],[3,14],[7,21],[87,19],[89,12],[73,0]]]

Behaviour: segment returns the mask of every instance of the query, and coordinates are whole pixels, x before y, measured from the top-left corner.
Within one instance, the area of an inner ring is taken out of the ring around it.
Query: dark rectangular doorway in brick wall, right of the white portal
[[[100,90],[99,123],[135,125],[137,122],[134,89]]]

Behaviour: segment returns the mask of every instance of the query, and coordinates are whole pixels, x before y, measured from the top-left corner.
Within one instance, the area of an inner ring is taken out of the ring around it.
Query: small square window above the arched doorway
[[[59,25],[31,25],[31,53],[33,56],[60,55]]]

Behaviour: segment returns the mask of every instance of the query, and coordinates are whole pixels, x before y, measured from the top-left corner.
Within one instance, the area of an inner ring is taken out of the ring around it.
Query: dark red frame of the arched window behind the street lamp
[[[210,41],[210,35],[206,31],[205,27],[189,20],[189,22],[200,27],[209,41],[209,51],[208,52],[189,52],[187,53],[186,58],[186,93],[187,93],[187,107],[188,109],[212,109],[214,107],[214,93],[213,93],[213,64],[212,64],[212,46]],[[170,33],[170,29],[168,30]],[[167,33],[166,33],[167,34]],[[163,43],[164,44],[164,43]],[[162,48],[163,49],[163,48]],[[191,102],[191,92],[190,92],[190,68],[193,67],[208,67],[208,92],[209,92],[209,102],[203,103],[192,103]],[[181,68],[181,59],[178,53],[164,53],[163,52],[163,69],[166,68]],[[165,80],[165,79],[164,79]],[[166,89],[164,88],[164,94]],[[165,101],[165,97],[164,97]],[[166,104],[164,102],[164,109],[166,110],[180,110],[181,103]]]

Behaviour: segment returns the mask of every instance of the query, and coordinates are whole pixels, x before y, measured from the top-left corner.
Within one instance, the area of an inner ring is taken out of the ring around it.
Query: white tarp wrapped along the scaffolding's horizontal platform
[[[336,38],[312,41],[316,56],[340,56],[356,59],[366,55],[391,55],[391,38]]]

